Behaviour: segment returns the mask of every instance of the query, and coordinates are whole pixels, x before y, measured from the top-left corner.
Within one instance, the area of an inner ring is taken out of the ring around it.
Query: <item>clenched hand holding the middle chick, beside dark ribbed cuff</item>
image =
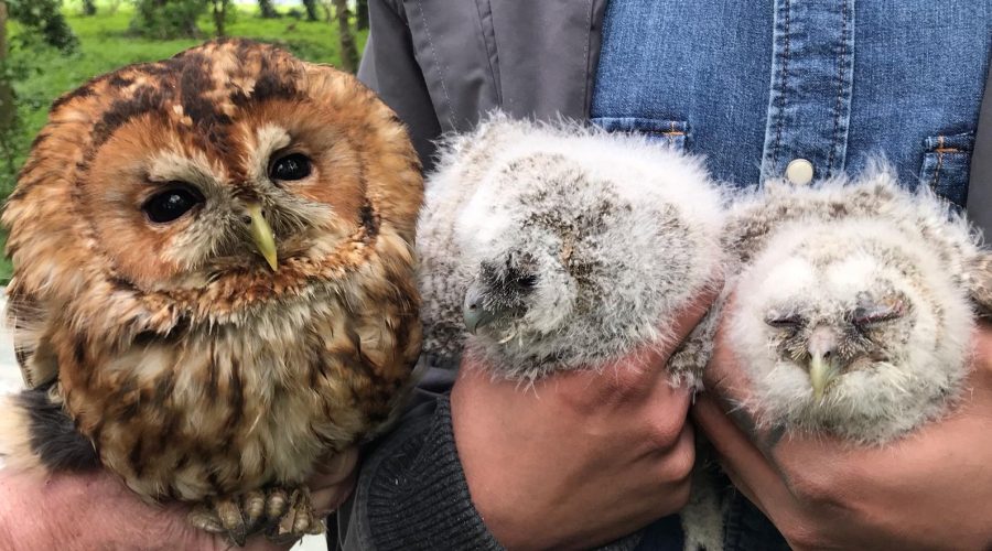
[[[713,296],[675,321],[677,341]],[[696,458],[690,392],[665,370],[675,345],[532,389],[466,361],[451,393],[472,501],[510,549],[591,547],[680,509]]]

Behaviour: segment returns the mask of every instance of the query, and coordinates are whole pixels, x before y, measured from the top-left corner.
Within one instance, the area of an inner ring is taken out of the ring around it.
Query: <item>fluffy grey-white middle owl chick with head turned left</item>
[[[442,151],[418,227],[442,363],[468,346],[510,380],[595,367],[664,344],[718,274],[723,199],[693,158],[503,116]]]

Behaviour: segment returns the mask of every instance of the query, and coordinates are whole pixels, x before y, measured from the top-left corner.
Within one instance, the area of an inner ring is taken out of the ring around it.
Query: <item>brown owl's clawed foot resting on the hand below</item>
[[[214,498],[196,506],[188,519],[196,528],[225,534],[237,545],[244,545],[249,536],[262,531],[277,543],[291,543],[305,534],[324,531],[323,522],[313,515],[305,486],[272,487]]]

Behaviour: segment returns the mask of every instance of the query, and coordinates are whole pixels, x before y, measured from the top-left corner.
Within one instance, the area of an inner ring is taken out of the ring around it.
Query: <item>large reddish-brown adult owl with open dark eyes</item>
[[[237,543],[319,531],[314,462],[375,432],[420,347],[422,199],[354,77],[207,43],[60,98],[3,213],[8,465],[103,465]]]

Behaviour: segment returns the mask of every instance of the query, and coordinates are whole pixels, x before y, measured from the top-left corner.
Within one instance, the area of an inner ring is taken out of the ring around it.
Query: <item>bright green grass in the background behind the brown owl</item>
[[[105,8],[98,3],[99,8]],[[66,2],[65,15],[69,26],[79,37],[78,52],[66,55],[56,50],[11,52],[11,61],[29,67],[26,77],[14,82],[18,95],[18,114],[22,129],[15,137],[12,150],[14,164],[24,162],[31,140],[47,120],[48,106],[63,93],[69,91],[89,78],[123,65],[169,57],[182,50],[213,37],[213,20],[205,15],[198,22],[201,39],[148,40],[129,32],[133,12],[121,3],[116,13],[100,9],[95,17],[84,17],[73,2]],[[233,7],[234,8],[234,7]],[[287,9],[283,8],[283,11]],[[302,9],[301,9],[302,11]],[[17,22],[8,25],[12,42],[21,29]],[[324,21],[309,22],[291,17],[261,19],[251,6],[236,7],[236,14],[226,29],[228,36],[242,36],[279,43],[302,60],[315,63],[338,64],[337,25]],[[367,32],[358,32],[359,52],[365,45]],[[6,156],[6,155],[4,155]],[[0,175],[0,199],[6,199],[13,188],[13,176]],[[0,235],[0,245],[6,235]],[[10,262],[0,259],[0,282],[10,278]]]

